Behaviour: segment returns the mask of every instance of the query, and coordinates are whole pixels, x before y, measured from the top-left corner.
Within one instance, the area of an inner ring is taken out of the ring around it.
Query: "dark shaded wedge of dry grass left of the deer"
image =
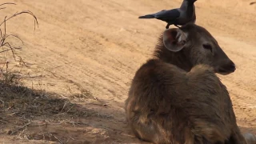
[[[60,118],[65,114],[72,117],[87,117],[89,110],[78,110],[79,106],[68,99],[58,98],[58,94],[46,93],[44,90],[32,90],[25,86],[8,85],[0,82],[0,112],[15,114],[18,117]]]

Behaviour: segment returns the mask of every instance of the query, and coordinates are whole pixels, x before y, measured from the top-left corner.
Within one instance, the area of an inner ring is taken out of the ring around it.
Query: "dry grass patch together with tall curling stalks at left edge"
[[[5,9],[6,5],[15,5],[14,3],[0,4],[0,10]],[[38,19],[29,10],[15,13],[10,17],[5,17],[0,22],[0,134],[13,135],[18,139],[46,140],[65,143],[63,138],[58,138],[56,134],[42,131],[42,127],[66,123],[72,126],[88,125],[75,121],[78,118],[110,118],[108,115],[102,115],[94,110],[86,109],[78,104],[70,102],[69,99],[59,98],[59,94],[48,93],[46,90],[33,90],[22,85],[22,75],[10,70],[9,62],[5,57],[6,53],[12,54],[15,61],[17,58],[26,66],[22,58],[16,54],[16,50],[22,47],[14,46],[10,43],[11,38],[18,38],[13,34],[8,34],[6,22],[10,18],[15,18],[20,14],[30,14],[34,18],[34,27],[38,26]],[[22,42],[21,38],[18,38]],[[23,42],[22,42],[23,43]],[[1,66],[2,65],[2,66]],[[21,68],[22,70],[22,68]],[[92,99],[93,94],[88,90],[83,90],[81,94],[74,94],[70,98]],[[30,131],[31,127],[38,127],[38,130]],[[60,131],[62,133],[62,131]],[[72,138],[71,138],[72,139]],[[66,139],[66,142],[69,138]]]

